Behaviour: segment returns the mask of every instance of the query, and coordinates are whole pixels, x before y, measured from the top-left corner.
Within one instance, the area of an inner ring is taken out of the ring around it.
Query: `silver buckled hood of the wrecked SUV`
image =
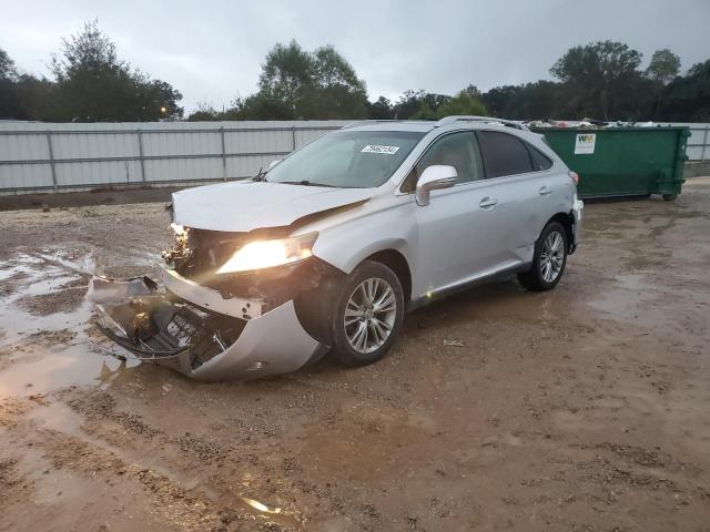
[[[196,229],[248,232],[291,225],[303,216],[373,195],[372,188],[235,181],[175,192],[173,221]]]

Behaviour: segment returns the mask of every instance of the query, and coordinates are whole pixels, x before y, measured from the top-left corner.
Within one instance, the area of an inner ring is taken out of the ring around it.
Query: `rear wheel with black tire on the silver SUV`
[[[546,256],[550,256],[549,249],[555,249],[552,256],[556,259],[546,259]],[[518,274],[518,280],[528,290],[532,291],[545,291],[555,288],[565,273],[568,252],[569,243],[567,242],[565,227],[559,222],[550,222],[545,226],[535,244],[532,266],[529,270]]]

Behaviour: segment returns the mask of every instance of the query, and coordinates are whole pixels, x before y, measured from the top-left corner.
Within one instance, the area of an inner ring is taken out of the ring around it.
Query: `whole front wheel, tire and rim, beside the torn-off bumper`
[[[372,291],[374,297],[369,297]],[[379,360],[399,334],[404,305],[402,283],[395,273],[382,263],[363,262],[344,280],[335,300],[329,323],[332,356],[345,366]]]

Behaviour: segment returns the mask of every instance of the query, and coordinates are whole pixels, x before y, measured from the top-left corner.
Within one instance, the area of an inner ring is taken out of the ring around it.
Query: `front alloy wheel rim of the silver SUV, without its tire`
[[[363,280],[345,305],[347,342],[361,354],[376,351],[392,335],[396,317],[397,298],[389,283],[379,277]]]

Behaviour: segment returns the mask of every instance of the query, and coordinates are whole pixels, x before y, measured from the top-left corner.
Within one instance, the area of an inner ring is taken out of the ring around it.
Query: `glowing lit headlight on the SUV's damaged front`
[[[250,272],[297,263],[308,258],[317,233],[272,241],[254,241],[237,249],[219,269],[217,274]]]

